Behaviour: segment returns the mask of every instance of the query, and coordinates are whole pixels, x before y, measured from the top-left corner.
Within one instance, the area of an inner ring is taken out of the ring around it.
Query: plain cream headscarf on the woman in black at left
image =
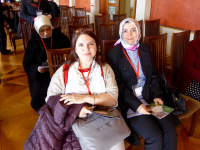
[[[51,27],[51,34],[52,34],[52,30],[53,30],[53,26],[51,24],[51,21],[49,19],[49,17],[45,16],[45,15],[40,15],[40,16],[37,16],[34,20],[34,27],[35,27],[35,30],[36,32],[40,35],[39,33],[39,30],[42,26],[44,25],[48,25]],[[41,36],[41,35],[40,35]],[[41,36],[42,37],[42,36]],[[44,37],[42,37],[44,38]]]

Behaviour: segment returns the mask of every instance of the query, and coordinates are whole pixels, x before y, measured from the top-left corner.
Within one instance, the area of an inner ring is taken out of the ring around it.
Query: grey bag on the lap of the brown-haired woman
[[[78,118],[72,129],[79,139],[82,150],[110,150],[111,147],[131,133],[121,113],[115,107],[106,107],[112,116],[92,113],[86,118]]]

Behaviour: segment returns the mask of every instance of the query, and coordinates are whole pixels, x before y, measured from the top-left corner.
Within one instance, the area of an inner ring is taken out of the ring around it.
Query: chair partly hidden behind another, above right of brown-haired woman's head
[[[97,38],[99,38],[99,23],[109,23],[110,22],[110,15],[95,15],[95,33]]]

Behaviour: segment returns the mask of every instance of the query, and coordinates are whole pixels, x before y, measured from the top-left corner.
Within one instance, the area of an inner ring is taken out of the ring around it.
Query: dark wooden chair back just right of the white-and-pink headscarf
[[[145,20],[145,37],[160,35],[160,19]]]

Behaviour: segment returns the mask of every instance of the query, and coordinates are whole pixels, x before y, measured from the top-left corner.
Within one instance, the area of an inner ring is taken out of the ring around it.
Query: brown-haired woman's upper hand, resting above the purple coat
[[[71,105],[71,104],[82,104],[85,103],[85,95],[82,94],[66,94],[66,95],[61,95],[60,101],[64,101],[64,104],[66,105]]]

